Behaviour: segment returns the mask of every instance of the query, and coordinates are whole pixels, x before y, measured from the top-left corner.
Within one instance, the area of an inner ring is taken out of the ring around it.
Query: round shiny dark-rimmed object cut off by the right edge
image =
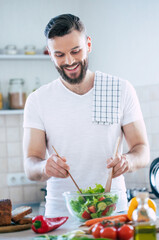
[[[154,159],[150,165],[149,180],[152,192],[159,198],[159,158]]]

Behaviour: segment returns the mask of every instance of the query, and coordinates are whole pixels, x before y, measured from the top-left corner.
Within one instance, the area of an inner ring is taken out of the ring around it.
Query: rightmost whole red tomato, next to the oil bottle
[[[134,236],[134,228],[129,224],[124,224],[118,228],[117,235],[119,239],[129,240]]]

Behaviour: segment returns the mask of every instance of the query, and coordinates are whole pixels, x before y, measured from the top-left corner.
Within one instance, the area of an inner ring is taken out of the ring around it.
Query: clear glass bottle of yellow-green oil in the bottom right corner
[[[140,192],[136,196],[138,207],[134,210],[134,240],[156,240],[156,213],[148,205],[148,192]]]

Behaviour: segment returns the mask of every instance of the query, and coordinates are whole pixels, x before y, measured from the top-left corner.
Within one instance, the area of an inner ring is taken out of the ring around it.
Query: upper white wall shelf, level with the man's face
[[[35,55],[25,55],[25,54],[15,54],[7,55],[0,54],[0,60],[49,60],[49,55],[44,54],[35,54]]]

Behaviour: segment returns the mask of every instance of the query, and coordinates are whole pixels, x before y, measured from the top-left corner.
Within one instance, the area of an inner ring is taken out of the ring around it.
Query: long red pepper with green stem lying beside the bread
[[[67,221],[68,217],[46,218],[42,215],[32,218],[32,230],[36,233],[50,232]]]

